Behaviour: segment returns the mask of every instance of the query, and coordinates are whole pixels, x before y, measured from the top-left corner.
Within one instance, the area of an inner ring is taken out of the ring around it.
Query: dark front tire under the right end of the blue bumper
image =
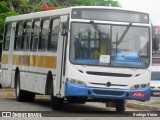
[[[126,102],[125,100],[116,100],[116,111],[124,112],[126,110]]]

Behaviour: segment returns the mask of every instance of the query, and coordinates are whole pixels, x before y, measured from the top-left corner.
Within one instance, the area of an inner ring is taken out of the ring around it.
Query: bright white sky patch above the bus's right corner
[[[160,0],[117,0],[122,8],[147,12],[153,25],[160,25]]]

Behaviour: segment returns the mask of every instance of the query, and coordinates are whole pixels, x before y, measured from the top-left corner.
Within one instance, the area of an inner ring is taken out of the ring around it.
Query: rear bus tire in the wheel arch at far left
[[[19,102],[23,102],[25,100],[26,92],[20,89],[20,74],[16,75],[16,100]]]

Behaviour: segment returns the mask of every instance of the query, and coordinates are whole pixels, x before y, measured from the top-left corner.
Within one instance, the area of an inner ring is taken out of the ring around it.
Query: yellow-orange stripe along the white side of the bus
[[[6,57],[7,56],[7,57]],[[56,68],[56,56],[13,55],[12,64],[17,66],[32,66]],[[8,64],[8,55],[3,55],[3,64]]]

